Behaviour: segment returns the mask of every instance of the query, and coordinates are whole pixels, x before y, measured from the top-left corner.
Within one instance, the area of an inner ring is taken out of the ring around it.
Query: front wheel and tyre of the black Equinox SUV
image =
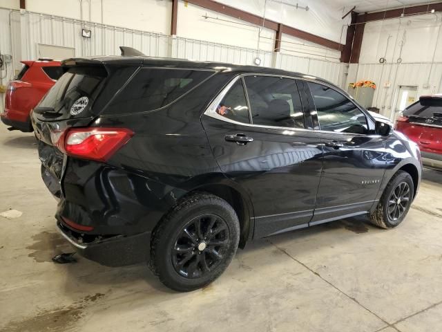
[[[407,172],[398,171],[385,187],[376,210],[369,214],[371,223],[385,229],[396,227],[410,210],[413,196],[412,177]]]

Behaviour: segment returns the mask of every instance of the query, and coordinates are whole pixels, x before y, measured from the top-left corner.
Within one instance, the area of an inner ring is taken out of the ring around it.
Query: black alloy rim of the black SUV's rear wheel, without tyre
[[[201,278],[222,262],[229,244],[229,227],[224,219],[215,214],[197,216],[175,239],[173,268],[182,277]]]

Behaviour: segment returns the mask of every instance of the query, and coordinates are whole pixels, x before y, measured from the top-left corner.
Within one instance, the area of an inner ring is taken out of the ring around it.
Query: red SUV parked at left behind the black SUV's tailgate
[[[9,130],[32,131],[30,111],[46,92],[63,75],[59,61],[39,59],[22,61],[24,64],[19,75],[8,84],[5,97],[5,112],[0,114],[1,121]]]

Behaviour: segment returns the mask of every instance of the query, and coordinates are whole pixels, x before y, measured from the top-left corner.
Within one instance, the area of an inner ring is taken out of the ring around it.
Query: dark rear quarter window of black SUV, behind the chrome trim
[[[170,104],[211,76],[213,71],[142,68],[106,113],[152,111]]]

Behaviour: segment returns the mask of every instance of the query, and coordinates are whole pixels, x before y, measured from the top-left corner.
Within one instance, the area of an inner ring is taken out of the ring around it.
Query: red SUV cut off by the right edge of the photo
[[[419,145],[422,163],[442,169],[442,95],[423,95],[396,120],[401,131]]]

